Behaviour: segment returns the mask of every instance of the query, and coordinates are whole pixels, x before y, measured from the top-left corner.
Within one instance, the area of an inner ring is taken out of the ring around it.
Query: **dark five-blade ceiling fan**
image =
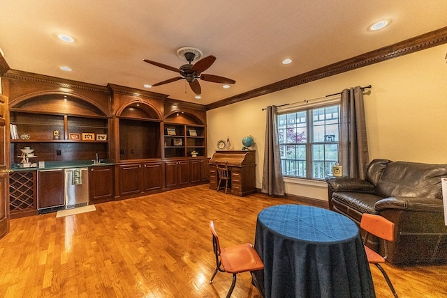
[[[174,68],[172,66],[163,63],[150,61],[147,59],[143,60],[149,64],[156,65],[159,68],[172,70],[173,72],[179,72],[179,74],[182,76],[182,77],[173,77],[172,79],[167,79],[166,81],[160,81],[159,83],[152,85],[152,87],[172,83],[173,81],[178,81],[179,79],[186,79],[186,81],[189,83],[189,86],[191,87],[191,90],[197,95],[200,95],[200,93],[202,93],[202,88],[200,87],[198,79],[220,84],[235,84],[236,82],[235,80],[228,79],[226,77],[220,77],[217,75],[207,75],[202,73],[208,68],[210,68],[212,63],[216,61],[216,57],[212,55],[206,56],[205,58],[200,59],[194,64],[191,64],[191,62],[194,61],[194,59],[198,59],[202,56],[202,52],[200,52],[200,50],[191,47],[182,47],[181,49],[178,49],[177,55],[181,58],[182,56],[184,56],[186,61],[188,61],[188,64],[184,64],[179,68]]]

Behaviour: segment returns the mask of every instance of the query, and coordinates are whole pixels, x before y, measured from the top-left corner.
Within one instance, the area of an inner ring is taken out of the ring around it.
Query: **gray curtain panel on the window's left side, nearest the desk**
[[[284,196],[284,180],[279,155],[277,107],[267,107],[263,185],[261,192],[269,196]]]

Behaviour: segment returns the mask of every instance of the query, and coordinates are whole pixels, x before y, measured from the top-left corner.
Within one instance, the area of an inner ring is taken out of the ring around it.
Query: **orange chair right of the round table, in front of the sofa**
[[[393,292],[394,297],[397,298],[397,293],[393,287],[393,284],[390,281],[390,278],[388,277],[388,274],[386,274],[383,267],[381,267],[381,265],[379,264],[385,262],[386,260],[388,254],[386,246],[387,241],[394,240],[394,223],[392,221],[389,221],[385,217],[381,217],[380,215],[364,213],[362,215],[362,219],[360,220],[360,228],[362,228],[366,232],[364,244],[367,244],[369,234],[375,235],[383,239],[385,256],[379,255],[379,253],[376,253],[375,251],[373,251],[372,249],[370,249],[368,246],[365,245],[366,256],[368,258],[369,264],[376,265],[376,267],[379,268],[379,270],[382,272],[383,277],[388,283],[391,292]]]

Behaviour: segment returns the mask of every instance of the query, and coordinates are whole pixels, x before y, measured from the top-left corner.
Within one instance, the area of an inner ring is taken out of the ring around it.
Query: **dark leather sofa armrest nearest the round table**
[[[382,198],[374,205],[376,211],[386,209],[409,210],[420,212],[444,212],[442,200],[436,198],[413,198],[406,196],[391,196]]]

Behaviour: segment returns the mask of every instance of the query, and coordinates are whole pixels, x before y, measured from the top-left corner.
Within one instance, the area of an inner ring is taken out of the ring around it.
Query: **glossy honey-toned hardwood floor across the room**
[[[210,219],[221,245],[254,242],[256,216],[298,203],[238,197],[207,185],[96,204],[96,212],[13,219],[0,240],[0,297],[225,297],[231,275],[214,270]],[[447,265],[384,265],[399,297],[447,297]],[[371,267],[377,297],[393,297]],[[232,297],[258,297],[249,273]],[[280,297],[279,297],[280,298]]]

